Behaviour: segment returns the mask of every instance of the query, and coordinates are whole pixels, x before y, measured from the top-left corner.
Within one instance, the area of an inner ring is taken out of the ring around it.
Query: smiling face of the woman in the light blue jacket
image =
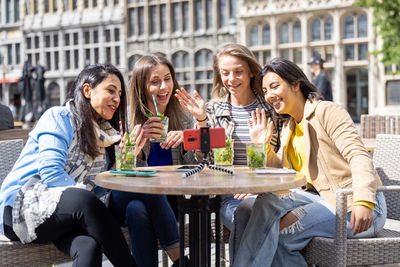
[[[94,88],[85,83],[83,93],[90,99],[96,119],[111,120],[121,100],[121,81],[116,75],[110,74]]]

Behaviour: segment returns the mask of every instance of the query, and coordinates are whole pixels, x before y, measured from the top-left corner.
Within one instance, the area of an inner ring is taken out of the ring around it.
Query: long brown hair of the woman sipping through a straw
[[[172,131],[183,130],[183,121],[188,119],[188,115],[181,108],[178,99],[175,97],[176,89],[180,88],[176,79],[175,69],[168,59],[160,55],[143,56],[133,67],[132,77],[129,82],[130,125],[143,124],[148,119],[146,114],[150,113],[150,109],[146,99],[147,82],[150,79],[150,71],[159,64],[168,67],[174,86],[165,110],[165,115],[169,117],[168,129]]]

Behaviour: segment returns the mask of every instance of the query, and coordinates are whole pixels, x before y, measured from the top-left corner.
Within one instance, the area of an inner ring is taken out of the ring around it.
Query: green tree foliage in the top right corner
[[[385,66],[400,64],[400,0],[357,0],[355,5],[373,9],[375,32],[383,39],[374,55],[382,55]]]

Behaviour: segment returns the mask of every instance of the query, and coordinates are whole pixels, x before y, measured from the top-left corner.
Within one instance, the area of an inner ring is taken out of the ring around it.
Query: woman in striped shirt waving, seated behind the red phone
[[[191,96],[185,89],[177,90],[176,97],[182,107],[197,119],[197,127],[224,127],[226,138],[234,140],[234,165],[246,165],[246,143],[250,143],[248,119],[253,111],[265,110],[267,117],[274,123],[274,136],[271,145],[279,148],[279,131],[281,120],[263,98],[259,73],[261,66],[253,53],[240,44],[228,44],[214,56],[214,84],[212,99],[206,104],[198,92]],[[245,227],[240,224],[241,218],[234,213],[242,200],[249,195],[228,195],[223,198],[221,207],[222,223],[231,230],[231,249],[236,246],[235,229]],[[241,204],[250,210],[254,198]],[[245,220],[247,222],[247,220]],[[241,231],[238,231],[241,232]],[[240,240],[240,239],[238,239]]]

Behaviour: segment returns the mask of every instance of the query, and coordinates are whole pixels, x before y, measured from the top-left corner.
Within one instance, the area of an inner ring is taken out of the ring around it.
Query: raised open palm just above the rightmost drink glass
[[[261,144],[266,142],[269,144],[272,137],[273,126],[270,120],[267,120],[265,110],[260,111],[259,108],[256,112],[251,112],[251,119],[247,120],[249,126],[249,135],[252,143]],[[266,132],[268,131],[267,135]]]

